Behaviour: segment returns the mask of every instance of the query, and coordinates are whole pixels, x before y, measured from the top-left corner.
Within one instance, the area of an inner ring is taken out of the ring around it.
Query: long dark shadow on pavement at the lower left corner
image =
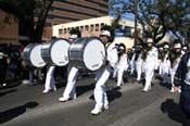
[[[0,112],[0,124],[9,122],[26,112],[26,109],[34,109],[38,105],[37,102],[27,102],[24,105],[20,105],[3,112]]]

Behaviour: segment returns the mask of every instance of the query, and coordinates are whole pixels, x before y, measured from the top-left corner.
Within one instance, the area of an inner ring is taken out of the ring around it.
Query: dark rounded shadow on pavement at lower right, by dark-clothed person
[[[180,105],[175,103],[173,99],[167,99],[161,104],[161,111],[167,113],[168,117],[177,123],[181,123],[182,126],[186,122],[185,113],[182,112]]]

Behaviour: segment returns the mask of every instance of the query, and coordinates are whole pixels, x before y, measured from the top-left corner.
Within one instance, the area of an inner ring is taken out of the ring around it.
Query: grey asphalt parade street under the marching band
[[[107,81],[110,109],[91,115],[93,77],[79,78],[77,99],[59,102],[65,84],[54,92],[42,94],[43,85],[13,85],[0,89],[1,126],[182,126],[185,116],[178,105],[179,94],[153,80],[152,90],[128,79],[122,89]]]

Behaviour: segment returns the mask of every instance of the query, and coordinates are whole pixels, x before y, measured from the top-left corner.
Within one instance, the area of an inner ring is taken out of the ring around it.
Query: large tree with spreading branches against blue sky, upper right
[[[123,0],[126,1],[124,5],[118,5],[117,1],[121,0],[112,0],[111,2],[110,10],[113,10],[112,15],[136,13],[134,0]],[[121,3],[123,4],[124,2]],[[142,38],[138,37],[139,41],[151,37],[157,43],[167,32],[172,32],[178,39],[181,39],[185,33],[187,35],[189,28],[181,24],[186,24],[187,20],[185,18],[190,17],[188,16],[190,11],[189,0],[138,0],[137,7],[137,18],[142,25],[143,34]]]

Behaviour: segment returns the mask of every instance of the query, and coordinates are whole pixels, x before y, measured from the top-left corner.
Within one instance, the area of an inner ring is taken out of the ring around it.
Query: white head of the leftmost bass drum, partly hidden
[[[41,47],[42,45],[36,45],[30,51],[30,62],[36,67],[43,67],[46,65],[45,61],[41,58]]]

